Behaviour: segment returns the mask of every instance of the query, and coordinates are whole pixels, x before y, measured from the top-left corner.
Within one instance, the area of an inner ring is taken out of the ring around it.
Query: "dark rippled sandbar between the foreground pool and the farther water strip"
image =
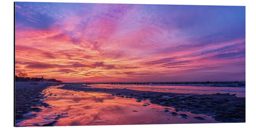
[[[212,116],[220,122],[245,122],[245,98],[236,97],[230,94],[176,94],[160,93],[150,91],[136,91],[130,89],[103,89],[87,88],[82,84],[65,84],[59,89],[84,91],[84,92],[102,92],[112,96],[135,98],[138,102],[141,100],[150,100],[151,103],[171,106],[176,111],[186,111],[193,114],[204,114]]]

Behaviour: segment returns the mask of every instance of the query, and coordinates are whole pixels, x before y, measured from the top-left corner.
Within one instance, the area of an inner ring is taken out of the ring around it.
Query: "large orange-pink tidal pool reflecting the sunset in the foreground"
[[[174,108],[144,100],[122,98],[105,93],[69,91],[53,86],[42,91],[50,108],[41,108],[36,117],[19,126],[114,125],[218,122],[210,116],[176,112]],[[201,117],[201,118],[200,118]]]

